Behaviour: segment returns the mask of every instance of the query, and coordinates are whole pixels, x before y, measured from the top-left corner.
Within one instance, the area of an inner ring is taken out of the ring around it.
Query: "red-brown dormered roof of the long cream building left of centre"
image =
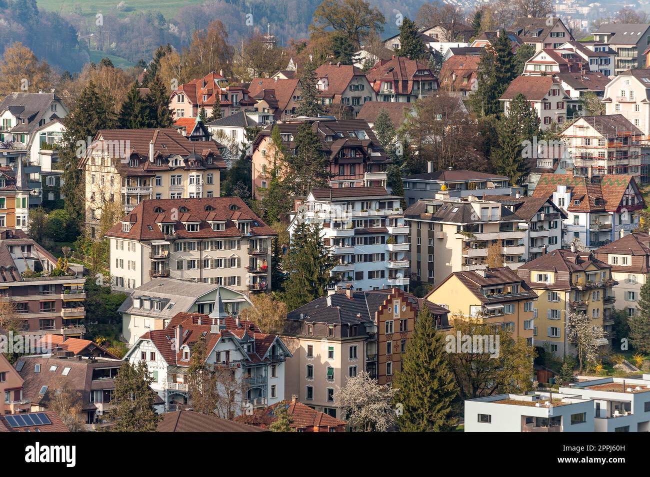
[[[184,212],[187,209],[187,212]],[[177,219],[172,220],[174,211]],[[237,221],[251,221],[250,234],[242,234]],[[174,223],[179,239],[244,238],[248,236],[275,236],[276,233],[257,217],[239,197],[202,197],[198,199],[146,199],[125,217],[132,223],[129,232],[118,223],[107,232],[107,237],[133,240],[164,239],[157,223]],[[225,221],[224,230],[212,230],[208,221]],[[183,222],[199,222],[198,232],[188,232]]]

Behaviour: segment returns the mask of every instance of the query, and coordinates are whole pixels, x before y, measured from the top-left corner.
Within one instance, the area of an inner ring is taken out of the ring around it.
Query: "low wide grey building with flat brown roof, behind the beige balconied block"
[[[402,177],[404,199],[411,206],[419,200],[434,199],[445,192],[449,197],[468,197],[484,194],[514,195],[522,188],[510,186],[510,178],[504,175],[489,174],[465,169],[434,171],[432,162],[428,163],[428,172]]]

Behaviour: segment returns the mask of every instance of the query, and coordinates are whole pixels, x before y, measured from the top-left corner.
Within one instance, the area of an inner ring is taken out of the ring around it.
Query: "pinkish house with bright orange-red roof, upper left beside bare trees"
[[[212,116],[217,97],[220,98],[221,117],[241,110],[252,110],[255,105],[248,89],[242,85],[229,85],[223,74],[212,71],[203,78],[181,84],[170,97],[169,107],[175,117],[198,117],[201,108],[207,117]]]

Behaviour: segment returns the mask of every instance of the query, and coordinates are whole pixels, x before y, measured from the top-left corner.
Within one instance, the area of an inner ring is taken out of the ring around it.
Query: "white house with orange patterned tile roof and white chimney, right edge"
[[[590,248],[629,234],[639,223],[638,211],[645,207],[643,195],[629,175],[543,174],[533,197],[550,198],[567,213],[563,245],[577,239]]]

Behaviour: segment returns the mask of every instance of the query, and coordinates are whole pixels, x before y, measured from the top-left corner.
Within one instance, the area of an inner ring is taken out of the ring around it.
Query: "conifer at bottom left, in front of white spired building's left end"
[[[153,378],[147,364],[124,363],[114,379],[115,390],[110,401],[110,417],[114,422],[112,432],[153,432],[158,415],[153,409],[155,394],[151,390]]]

